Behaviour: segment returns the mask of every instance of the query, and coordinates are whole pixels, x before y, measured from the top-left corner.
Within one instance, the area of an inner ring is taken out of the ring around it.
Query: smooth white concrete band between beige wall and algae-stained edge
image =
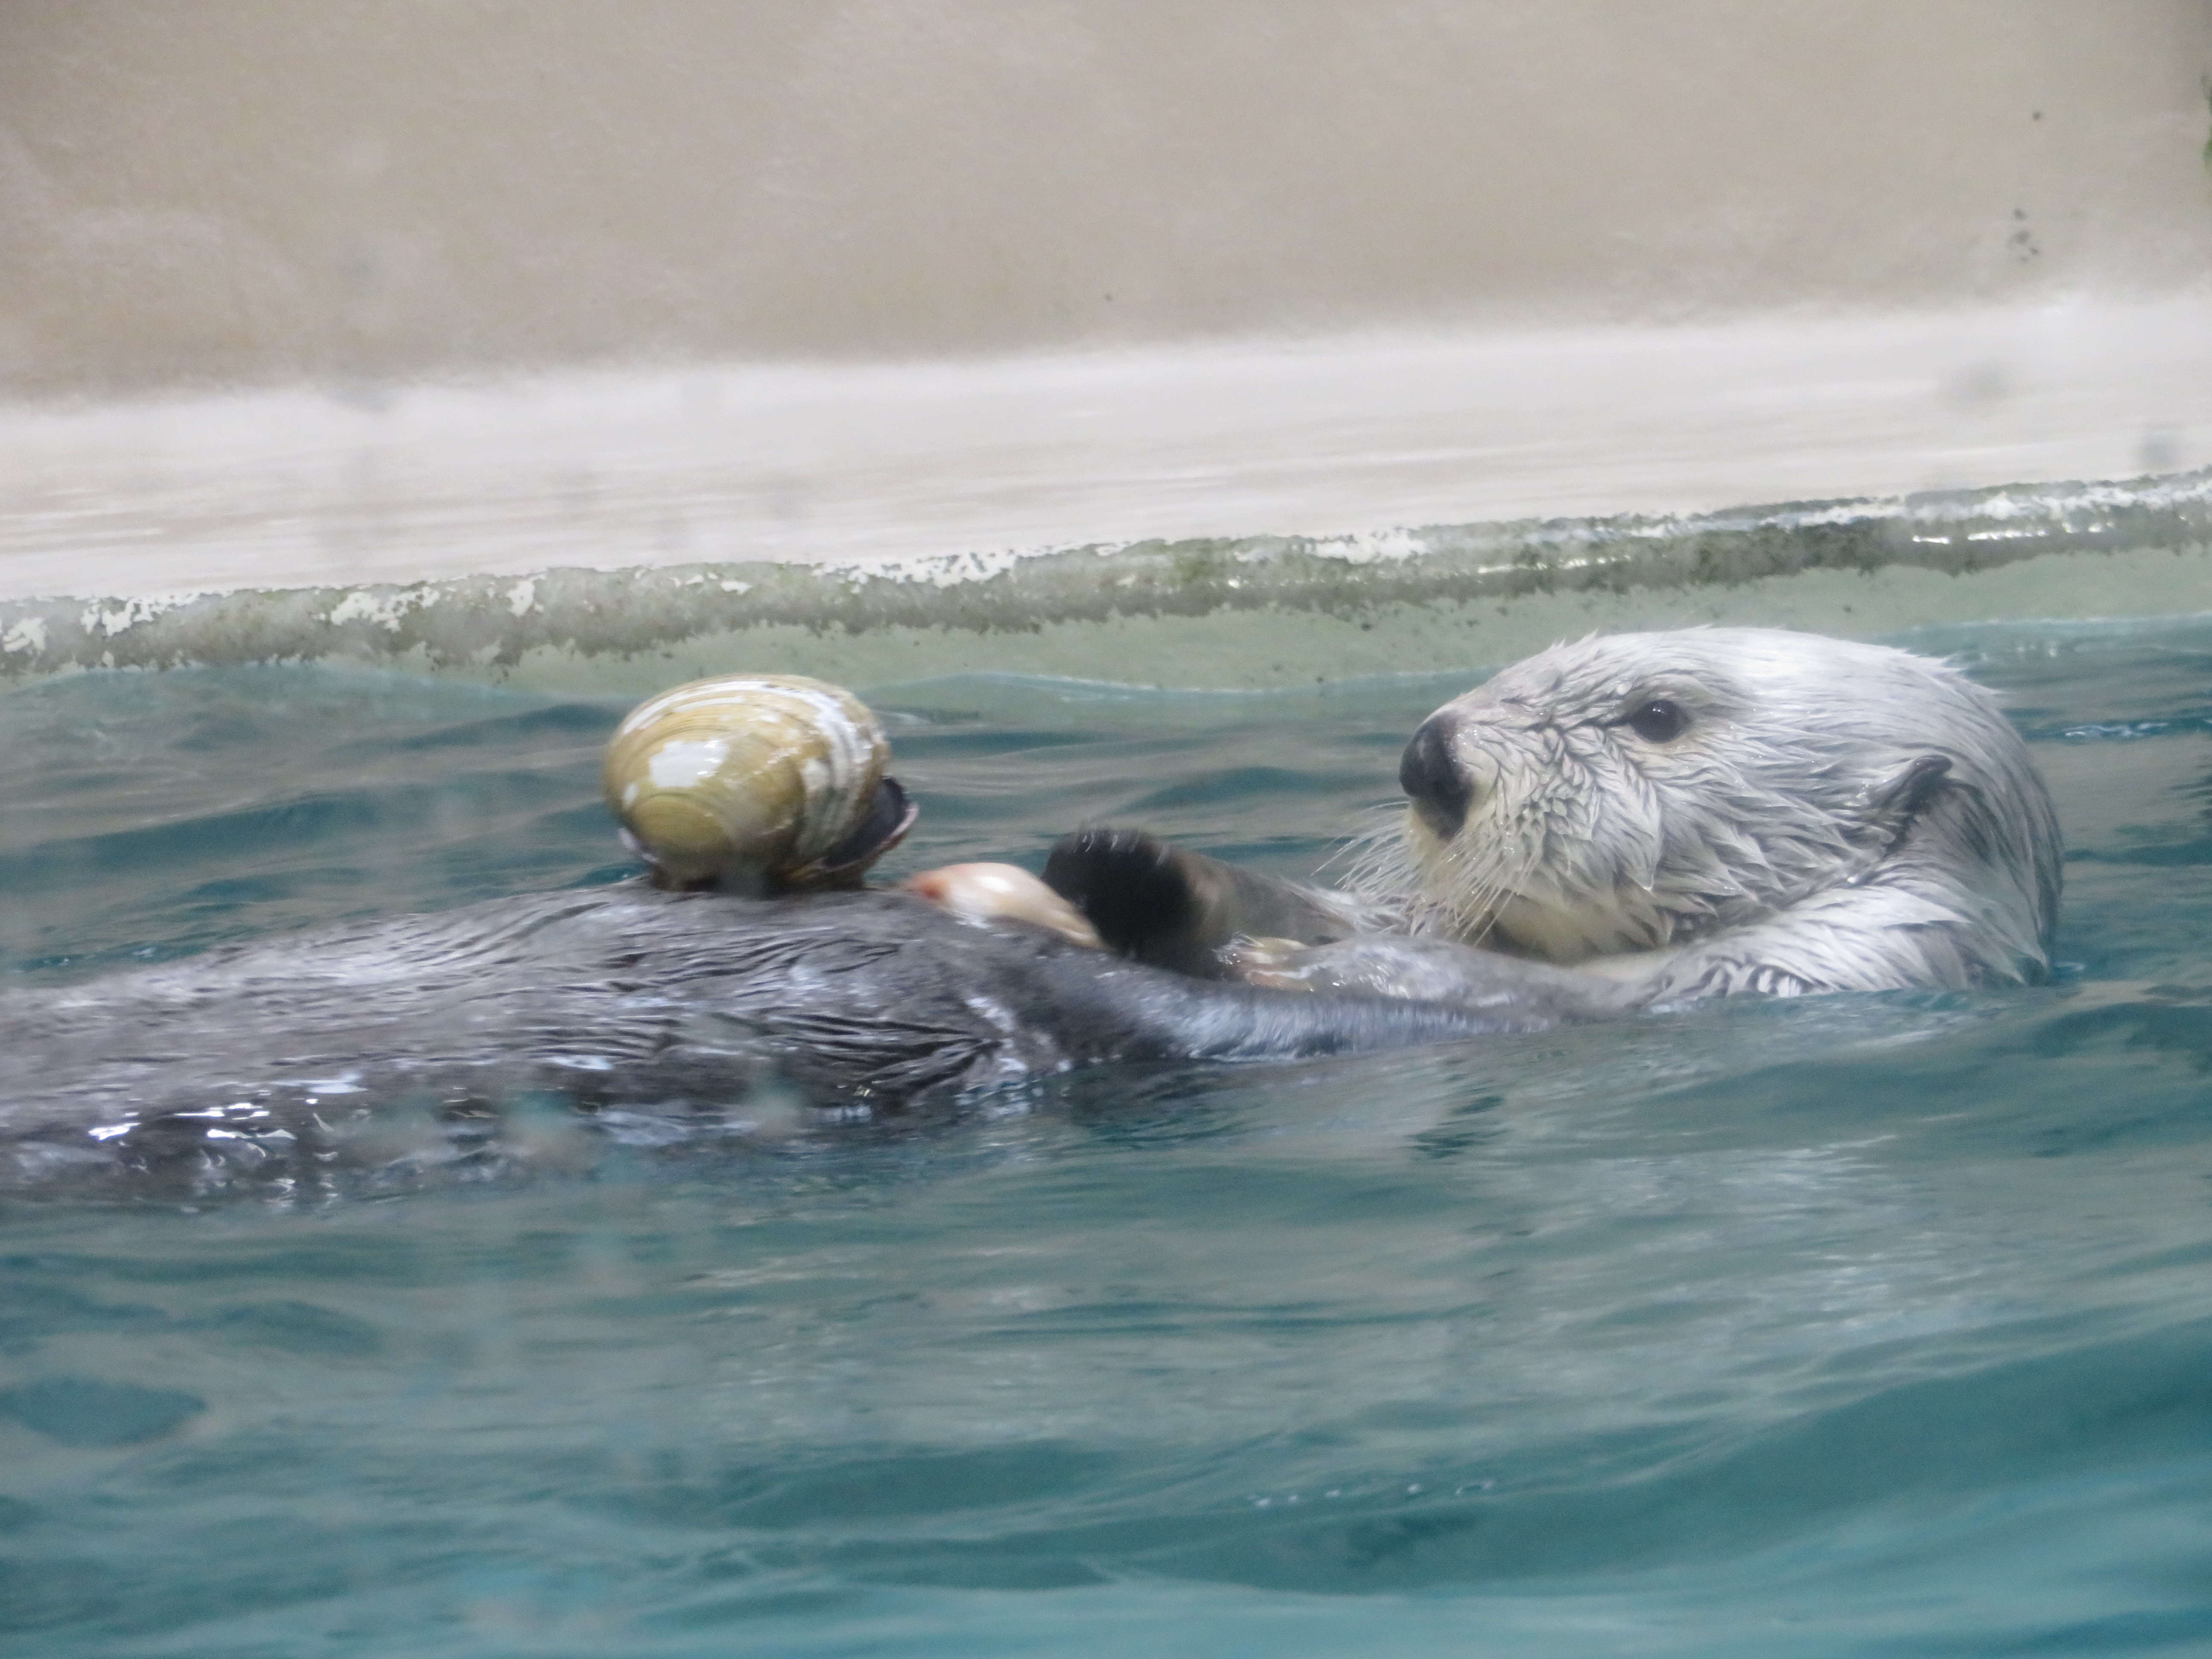
[[[2174,473],[2212,299],[0,411],[0,597],[807,564]]]

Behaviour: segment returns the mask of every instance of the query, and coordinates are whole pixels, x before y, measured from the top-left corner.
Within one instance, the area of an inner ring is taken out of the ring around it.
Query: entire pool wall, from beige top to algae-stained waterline
[[[2212,608],[2212,9],[0,22],[0,672]]]

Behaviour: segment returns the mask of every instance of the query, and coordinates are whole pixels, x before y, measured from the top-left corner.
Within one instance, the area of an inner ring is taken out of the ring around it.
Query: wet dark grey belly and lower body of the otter
[[[0,1141],[113,1159],[161,1119],[223,1110],[467,1113],[524,1093],[668,1106],[768,1077],[818,1104],[900,1106],[1115,1060],[1296,1057],[1542,1024],[1201,984],[902,894],[622,885],[4,995]]]

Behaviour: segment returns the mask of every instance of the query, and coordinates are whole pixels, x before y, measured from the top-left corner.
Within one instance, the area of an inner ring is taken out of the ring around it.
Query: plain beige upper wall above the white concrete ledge
[[[7,0],[0,389],[2141,292],[2205,0]]]

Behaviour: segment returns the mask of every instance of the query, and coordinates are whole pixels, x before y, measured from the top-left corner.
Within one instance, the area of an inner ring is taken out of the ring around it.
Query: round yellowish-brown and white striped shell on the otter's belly
[[[670,887],[856,883],[914,823],[891,745],[852,692],[803,675],[695,679],[606,745],[606,803]]]

